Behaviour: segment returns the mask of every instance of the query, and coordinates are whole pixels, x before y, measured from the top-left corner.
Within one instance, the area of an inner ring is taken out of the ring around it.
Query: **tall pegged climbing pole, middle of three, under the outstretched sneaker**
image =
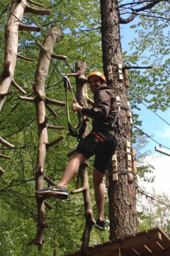
[[[57,105],[57,106],[65,106],[65,102],[60,102],[55,99],[49,99],[46,97],[45,93],[45,82],[46,77],[48,75],[49,64],[51,58],[66,60],[66,56],[55,55],[53,53],[53,49],[55,47],[55,43],[58,38],[61,38],[62,30],[53,26],[50,29],[50,32],[46,35],[46,38],[43,41],[43,44],[40,46],[40,55],[37,64],[37,70],[35,73],[35,81],[33,82],[33,90],[34,90],[34,98],[23,97],[20,96],[19,99],[22,101],[34,102],[36,108],[36,116],[37,116],[37,128],[38,128],[38,148],[37,148],[37,166],[35,173],[35,189],[43,189],[44,180],[46,180],[49,184],[54,185],[54,183],[47,177],[45,173],[45,163],[46,163],[46,151],[56,143],[60,142],[64,139],[62,135],[58,139],[53,142],[49,142],[47,129],[64,129],[64,127],[54,127],[48,125],[48,115],[46,115],[46,109],[52,113],[53,116],[57,116],[55,111],[49,106],[49,104]],[[43,244],[43,233],[44,228],[48,227],[48,222],[46,222],[45,218],[45,205],[49,209],[52,207],[45,201],[48,197],[36,197],[37,200],[37,212],[38,212],[38,220],[37,220],[37,235],[35,239],[30,241],[28,245],[42,245]]]

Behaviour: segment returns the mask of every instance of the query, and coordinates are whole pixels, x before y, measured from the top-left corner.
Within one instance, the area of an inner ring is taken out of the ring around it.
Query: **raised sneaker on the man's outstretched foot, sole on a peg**
[[[50,195],[54,198],[59,199],[67,199],[69,196],[67,189],[65,187],[63,188],[60,185],[54,185],[45,189],[36,190],[35,194],[38,196]]]

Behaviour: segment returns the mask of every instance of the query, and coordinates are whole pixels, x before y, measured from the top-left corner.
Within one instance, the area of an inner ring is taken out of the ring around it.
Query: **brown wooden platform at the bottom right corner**
[[[159,228],[89,247],[89,256],[170,256],[170,239]],[[80,250],[65,256],[81,256]]]

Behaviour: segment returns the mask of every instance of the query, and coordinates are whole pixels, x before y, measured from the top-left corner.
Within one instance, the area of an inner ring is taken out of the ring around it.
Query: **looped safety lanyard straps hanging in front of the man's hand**
[[[71,84],[71,82],[70,82],[70,80],[68,79],[67,76],[63,77],[63,82],[64,82],[64,89],[65,89],[65,92],[66,92],[66,111],[67,111],[67,121],[68,121],[69,134],[73,137],[77,137],[77,140],[80,141],[81,137],[84,134],[84,131],[86,129],[86,122],[84,120],[84,116],[81,113],[81,123],[78,124],[79,131],[77,132],[75,130],[74,126],[72,125],[72,123],[70,121],[70,117],[69,117],[69,101],[68,101],[67,90],[69,90],[71,92],[74,101],[77,102],[77,100],[75,99],[75,96],[72,92],[72,84]]]

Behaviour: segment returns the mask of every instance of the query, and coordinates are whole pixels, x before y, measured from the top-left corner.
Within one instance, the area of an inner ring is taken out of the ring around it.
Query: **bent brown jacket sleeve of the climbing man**
[[[99,93],[91,108],[83,107],[82,113],[95,119],[104,120],[107,118],[110,110],[110,96],[106,92]]]

